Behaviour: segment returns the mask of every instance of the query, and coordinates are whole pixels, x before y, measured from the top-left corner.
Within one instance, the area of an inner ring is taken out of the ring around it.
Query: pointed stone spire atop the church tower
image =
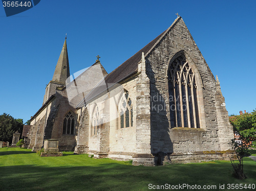
[[[52,81],[65,84],[69,76],[70,76],[69,57],[68,57],[67,36],[66,36],[61,53],[59,55],[57,65],[55,67]]]

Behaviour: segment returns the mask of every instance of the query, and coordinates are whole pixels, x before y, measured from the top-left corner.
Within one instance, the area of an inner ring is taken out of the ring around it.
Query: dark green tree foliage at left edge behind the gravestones
[[[23,120],[15,119],[11,115],[3,113],[0,115],[0,140],[12,142],[13,133],[23,131]]]

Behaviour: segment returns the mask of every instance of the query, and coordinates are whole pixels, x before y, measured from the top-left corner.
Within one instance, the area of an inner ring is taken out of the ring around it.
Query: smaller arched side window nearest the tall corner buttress
[[[120,128],[133,127],[133,106],[132,100],[127,91],[124,92],[124,98],[121,99],[119,106]]]

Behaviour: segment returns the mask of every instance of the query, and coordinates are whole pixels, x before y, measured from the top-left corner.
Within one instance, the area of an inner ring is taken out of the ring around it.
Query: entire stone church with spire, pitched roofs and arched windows
[[[225,159],[233,138],[220,83],[178,18],[110,74],[99,61],[70,77],[65,40],[26,145],[134,165]]]

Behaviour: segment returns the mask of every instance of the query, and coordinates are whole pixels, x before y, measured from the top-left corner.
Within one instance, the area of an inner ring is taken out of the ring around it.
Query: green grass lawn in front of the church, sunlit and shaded
[[[230,161],[167,166],[132,166],[131,162],[93,159],[63,152],[62,157],[39,157],[28,149],[0,148],[0,190],[149,190],[152,185],[200,185],[201,190],[227,189],[228,184],[256,184],[256,162],[246,157],[246,180],[231,176]],[[220,189],[219,185],[225,186]],[[203,185],[216,185],[202,189]],[[155,189],[150,189],[155,190]],[[170,189],[182,190],[182,189]],[[183,190],[190,190],[184,188]],[[198,189],[191,189],[198,190]]]

